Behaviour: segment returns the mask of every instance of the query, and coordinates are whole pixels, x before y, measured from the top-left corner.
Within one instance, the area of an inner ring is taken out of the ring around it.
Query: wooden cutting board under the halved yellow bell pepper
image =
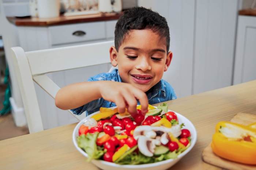
[[[251,124],[256,122],[256,115],[251,115],[248,113],[238,113],[231,119],[234,123],[240,123],[244,125]],[[211,145],[209,144],[202,153],[202,157],[204,162],[209,163],[214,166],[221,167],[223,169],[229,170],[256,170],[256,166],[245,165],[241,163],[236,163],[232,161],[228,161],[226,159],[220,158],[215,155],[211,150]]]

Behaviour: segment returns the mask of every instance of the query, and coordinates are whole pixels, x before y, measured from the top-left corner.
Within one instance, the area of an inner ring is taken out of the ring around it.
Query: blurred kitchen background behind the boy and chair
[[[124,10],[164,16],[173,61],[163,79],[177,97],[256,79],[256,0],[0,0],[0,140],[28,134],[10,48],[25,51],[114,39]],[[90,54],[87,54],[90,55]],[[108,57],[108,56],[106,56]],[[60,87],[108,72],[110,64],[49,74]],[[45,129],[76,119],[35,84]],[[216,94],[218,95],[218,94]]]

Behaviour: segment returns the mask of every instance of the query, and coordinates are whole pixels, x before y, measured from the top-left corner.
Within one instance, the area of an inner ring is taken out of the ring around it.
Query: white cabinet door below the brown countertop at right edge
[[[234,84],[256,79],[256,16],[239,16]]]

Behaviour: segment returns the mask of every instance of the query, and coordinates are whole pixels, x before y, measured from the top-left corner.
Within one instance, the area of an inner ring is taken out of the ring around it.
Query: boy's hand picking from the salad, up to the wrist
[[[137,113],[137,99],[141,104],[142,114],[145,115],[148,107],[146,93],[131,84],[123,82],[100,81],[99,92],[102,98],[116,103],[119,113],[124,113],[125,108],[132,117]]]

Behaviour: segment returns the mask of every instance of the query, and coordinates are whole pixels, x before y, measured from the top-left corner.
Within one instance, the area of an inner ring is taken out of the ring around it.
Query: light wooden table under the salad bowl
[[[239,112],[256,115],[256,80],[167,103],[192,121],[198,135],[193,149],[170,169],[219,169],[202,161],[202,151],[211,142],[218,121],[230,120]],[[98,169],[76,151],[71,138],[75,125],[0,141],[0,169]]]

